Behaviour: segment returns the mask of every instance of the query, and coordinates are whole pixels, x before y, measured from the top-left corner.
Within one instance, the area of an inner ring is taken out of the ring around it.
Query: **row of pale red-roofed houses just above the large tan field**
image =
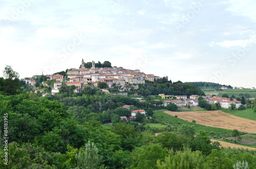
[[[162,98],[165,98],[166,95],[164,94],[159,94]],[[170,103],[176,104],[178,107],[184,107],[186,105],[190,106],[198,106],[198,99],[199,95],[191,95],[189,98],[187,96],[169,96],[167,95],[168,98],[175,98],[173,100],[164,100],[164,106],[167,106]],[[219,103],[220,107],[222,108],[229,108],[231,104],[235,104],[236,108],[238,108],[242,103],[241,101],[237,101],[237,99],[231,99],[231,98],[223,98],[219,96],[214,96],[210,97],[210,95],[207,96],[201,96],[204,100],[206,100],[207,104],[212,104],[212,103]]]

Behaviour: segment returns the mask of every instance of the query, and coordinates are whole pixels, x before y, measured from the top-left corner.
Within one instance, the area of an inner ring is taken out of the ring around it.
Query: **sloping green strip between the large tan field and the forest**
[[[182,124],[187,124],[194,126],[196,132],[199,132],[200,130],[204,130],[209,136],[213,138],[222,138],[222,137],[228,137],[231,130],[228,129],[222,129],[222,128],[216,128],[216,127],[208,127],[196,123],[191,123],[179,118],[175,118],[174,116],[167,115],[163,111],[155,111],[154,117],[156,117],[157,120],[160,122],[164,122],[166,124],[170,124],[174,127],[174,129],[178,128],[178,126]]]

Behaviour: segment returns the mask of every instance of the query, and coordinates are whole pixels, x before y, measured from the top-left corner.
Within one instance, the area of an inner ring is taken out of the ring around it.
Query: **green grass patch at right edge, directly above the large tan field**
[[[230,115],[234,115],[240,118],[250,119],[256,121],[256,113],[253,112],[251,108],[246,108],[245,110],[231,110],[228,111],[227,108],[220,108],[218,110],[224,111]]]

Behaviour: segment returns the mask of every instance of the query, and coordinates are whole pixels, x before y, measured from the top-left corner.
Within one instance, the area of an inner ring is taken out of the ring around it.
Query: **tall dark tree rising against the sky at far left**
[[[5,83],[4,83],[4,92],[10,95],[16,95],[21,92],[21,85],[19,82],[19,74],[15,72],[11,66],[6,65],[3,70]]]

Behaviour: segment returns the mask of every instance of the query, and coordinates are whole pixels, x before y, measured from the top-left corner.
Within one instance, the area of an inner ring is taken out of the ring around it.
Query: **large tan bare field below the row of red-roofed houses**
[[[248,120],[227,114],[223,111],[164,111],[168,115],[178,116],[178,118],[197,124],[218,127],[224,129],[237,129],[248,133],[256,133],[256,121]]]

